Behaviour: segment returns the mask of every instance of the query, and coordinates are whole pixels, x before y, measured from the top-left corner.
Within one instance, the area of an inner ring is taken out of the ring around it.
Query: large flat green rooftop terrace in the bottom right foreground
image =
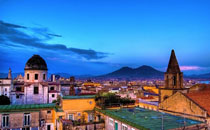
[[[143,130],[161,130],[162,119],[164,130],[201,124],[203,122],[186,119],[167,113],[143,108],[122,108],[118,110],[98,110],[105,115]]]

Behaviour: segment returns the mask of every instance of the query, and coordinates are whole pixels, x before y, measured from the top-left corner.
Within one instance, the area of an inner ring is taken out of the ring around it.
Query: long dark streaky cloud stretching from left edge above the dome
[[[0,41],[6,46],[45,49],[57,53],[78,55],[87,60],[102,59],[109,55],[108,53],[97,52],[92,49],[71,48],[63,44],[46,43],[47,41],[53,39],[53,37],[62,36],[51,33],[48,28],[29,28],[0,21]]]

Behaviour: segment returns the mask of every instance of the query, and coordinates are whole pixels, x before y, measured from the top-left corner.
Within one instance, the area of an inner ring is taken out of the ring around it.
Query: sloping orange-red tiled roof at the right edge
[[[204,108],[208,115],[210,115],[210,88],[206,88],[202,91],[190,92],[185,95],[200,107]]]

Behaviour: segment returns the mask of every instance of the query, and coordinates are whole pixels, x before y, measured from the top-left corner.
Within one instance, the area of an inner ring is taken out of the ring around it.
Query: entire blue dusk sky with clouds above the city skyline
[[[123,66],[210,72],[209,0],[0,0],[0,72],[33,54],[50,73],[99,75]]]

